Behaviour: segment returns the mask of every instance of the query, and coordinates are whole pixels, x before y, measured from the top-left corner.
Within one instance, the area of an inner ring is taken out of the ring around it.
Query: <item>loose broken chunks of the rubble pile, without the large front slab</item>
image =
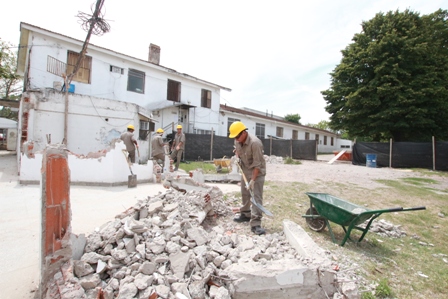
[[[230,299],[232,265],[313,262],[283,234],[238,235],[231,221],[216,225],[230,214],[216,187],[139,201],[87,237],[81,259],[56,273],[46,298]]]

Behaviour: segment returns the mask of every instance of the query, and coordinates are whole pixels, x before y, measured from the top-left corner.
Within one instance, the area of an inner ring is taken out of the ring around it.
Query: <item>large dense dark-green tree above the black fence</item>
[[[448,140],[448,12],[378,13],[322,91],[330,126],[374,141]]]

